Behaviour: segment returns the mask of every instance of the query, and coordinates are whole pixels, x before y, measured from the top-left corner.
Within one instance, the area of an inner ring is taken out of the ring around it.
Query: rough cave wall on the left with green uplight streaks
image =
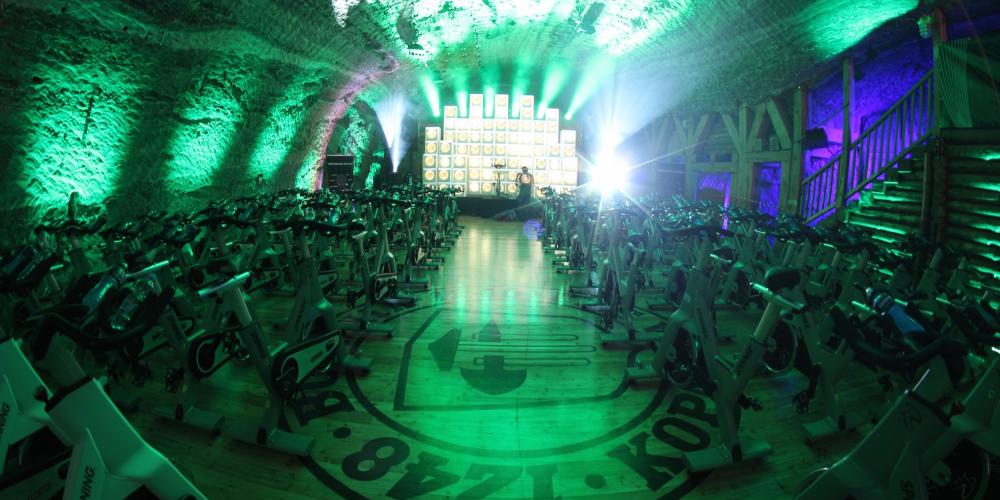
[[[241,194],[258,173],[308,186],[345,107],[329,67],[117,2],[7,2],[0,61],[3,240],[72,191],[117,218]]]

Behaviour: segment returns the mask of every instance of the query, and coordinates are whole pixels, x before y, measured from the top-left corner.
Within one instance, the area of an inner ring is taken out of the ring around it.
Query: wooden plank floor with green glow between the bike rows
[[[858,435],[804,443],[792,396],[798,374],[755,380],[764,410],[743,418],[745,435],[767,439],[763,461],[693,477],[679,457],[718,443],[713,404],[698,392],[630,386],[626,366],[648,350],[609,348],[596,317],[554,272],[520,223],[463,218],[465,232],[430,292],[409,310],[380,312],[391,339],[357,339],[374,359],[367,376],[317,380],[287,412],[292,429],[317,439],[308,459],[213,438],[140,411],[143,435],[190,473],[210,498],[788,498],[811,470]],[[260,301],[267,313],[291,300]],[[267,316],[268,314],[262,314]],[[720,328],[744,343],[759,311],[719,312]],[[662,320],[646,312],[642,325]],[[268,326],[270,329],[270,326]],[[275,336],[277,339],[277,336]],[[250,366],[209,381],[205,406],[229,421],[257,418],[266,401]],[[159,383],[149,404],[168,402]],[[852,393],[847,394],[851,401]],[[858,390],[859,407],[868,404]]]

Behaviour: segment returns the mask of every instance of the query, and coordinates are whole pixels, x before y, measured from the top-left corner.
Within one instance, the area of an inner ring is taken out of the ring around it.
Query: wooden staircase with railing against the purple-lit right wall
[[[802,179],[800,215],[832,215],[890,249],[910,233],[947,241],[977,271],[976,286],[1000,296],[1000,129],[938,130],[935,99],[930,71]]]

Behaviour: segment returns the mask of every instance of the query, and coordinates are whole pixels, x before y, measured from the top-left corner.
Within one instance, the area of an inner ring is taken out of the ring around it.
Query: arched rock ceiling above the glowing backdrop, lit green
[[[250,30],[344,81],[378,74],[363,96],[372,105],[402,93],[422,116],[430,90],[444,105],[489,87],[627,116],[622,133],[679,106],[731,109],[774,95],[876,28],[885,44],[915,36],[927,10],[920,0],[127,3],[167,25]]]

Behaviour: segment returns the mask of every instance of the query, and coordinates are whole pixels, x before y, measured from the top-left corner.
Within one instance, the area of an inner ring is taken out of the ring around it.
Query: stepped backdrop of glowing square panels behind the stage
[[[494,193],[496,169],[502,164],[502,189],[517,193],[517,174],[528,167],[535,176],[536,195],[543,187],[556,191],[576,187],[576,131],[559,130],[559,110],[535,117],[534,96],[521,96],[520,118],[510,113],[510,97],[497,94],[493,117],[484,116],[483,95],[469,96],[469,116],[459,106],[444,107],[444,128],[427,127],[424,143],[424,184],[461,187],[466,196]],[[462,106],[463,108],[465,106]]]

